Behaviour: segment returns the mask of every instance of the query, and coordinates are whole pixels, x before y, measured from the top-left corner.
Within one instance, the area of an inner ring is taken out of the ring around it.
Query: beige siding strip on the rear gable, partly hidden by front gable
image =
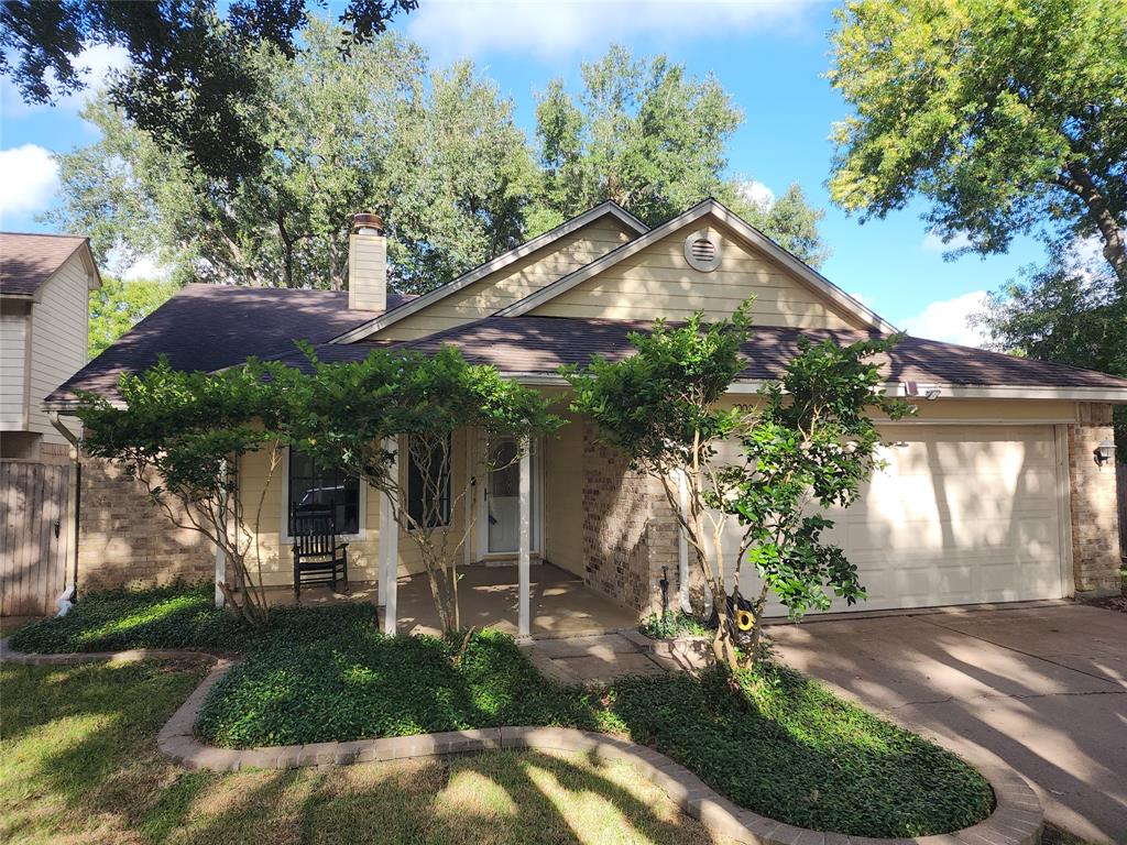
[[[604,216],[515,264],[474,282],[421,311],[403,318],[374,337],[409,340],[480,320],[522,300],[625,243],[633,233],[616,219]]]

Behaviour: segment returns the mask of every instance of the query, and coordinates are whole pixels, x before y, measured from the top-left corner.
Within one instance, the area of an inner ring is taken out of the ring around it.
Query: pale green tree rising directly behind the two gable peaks
[[[728,174],[727,144],[744,116],[715,77],[696,79],[665,55],[639,60],[618,45],[585,63],[582,77],[576,97],[559,79],[540,96],[532,233],[606,199],[655,225],[712,196],[799,258],[825,259],[822,212],[801,188],[756,203]]]

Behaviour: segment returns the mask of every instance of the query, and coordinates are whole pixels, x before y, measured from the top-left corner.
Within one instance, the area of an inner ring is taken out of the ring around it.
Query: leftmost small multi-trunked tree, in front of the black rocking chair
[[[233,582],[221,581],[227,604],[252,624],[266,621],[261,552],[263,505],[286,445],[273,390],[259,363],[222,373],[186,373],[166,358],[141,374],[123,374],[121,402],[82,393],[82,448],[109,461],[148,491],[180,528],[198,532],[225,555]],[[267,450],[268,474],[243,501],[241,459]]]

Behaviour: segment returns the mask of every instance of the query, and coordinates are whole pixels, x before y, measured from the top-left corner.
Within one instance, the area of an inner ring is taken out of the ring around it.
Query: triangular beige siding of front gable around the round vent
[[[730,314],[754,295],[754,321],[761,326],[866,328],[766,256],[713,221],[722,241],[722,261],[710,273],[689,266],[682,230],[663,238],[605,272],[531,311],[543,317],[596,317],[616,320],[684,319],[701,310],[712,318]]]

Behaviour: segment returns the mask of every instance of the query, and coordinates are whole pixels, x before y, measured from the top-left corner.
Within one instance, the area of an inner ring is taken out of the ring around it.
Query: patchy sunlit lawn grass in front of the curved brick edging
[[[579,755],[189,773],[154,737],[202,673],[181,661],[0,667],[0,840],[718,842],[625,764]]]

